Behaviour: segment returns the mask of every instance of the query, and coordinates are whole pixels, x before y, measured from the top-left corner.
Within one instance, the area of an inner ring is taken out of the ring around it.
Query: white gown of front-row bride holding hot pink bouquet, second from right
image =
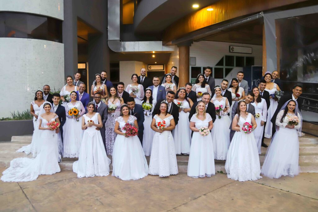
[[[237,114],[234,119],[237,119]],[[259,175],[260,163],[254,134],[242,131],[245,122],[252,123],[251,113],[248,113],[246,119],[239,117],[238,125],[241,131],[235,131],[227,153],[225,170],[227,177],[232,180],[247,181],[262,178]]]

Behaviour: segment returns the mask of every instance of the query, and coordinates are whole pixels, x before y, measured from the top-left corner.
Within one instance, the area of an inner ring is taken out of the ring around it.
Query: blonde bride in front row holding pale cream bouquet
[[[200,134],[201,127],[207,127],[205,136]],[[209,113],[206,113],[205,103],[200,101],[196,106],[196,113],[190,120],[193,136],[188,162],[189,177],[211,177],[215,174],[213,144],[209,135],[212,127],[212,118]]]

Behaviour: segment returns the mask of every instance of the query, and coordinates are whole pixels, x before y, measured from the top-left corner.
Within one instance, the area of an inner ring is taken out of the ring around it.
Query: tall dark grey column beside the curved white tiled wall
[[[64,21],[62,23],[64,44],[64,74],[77,72],[77,15],[73,0],[64,1]]]

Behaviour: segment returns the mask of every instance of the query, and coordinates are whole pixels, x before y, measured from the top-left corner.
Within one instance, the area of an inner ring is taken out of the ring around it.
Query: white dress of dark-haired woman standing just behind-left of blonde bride
[[[173,102],[177,104],[178,100],[174,99]],[[182,101],[183,108],[190,108],[186,99]],[[175,142],[176,154],[189,154],[191,145],[191,130],[189,122],[189,112],[184,113],[182,110],[179,112],[179,121],[176,128],[172,131],[173,140]]]

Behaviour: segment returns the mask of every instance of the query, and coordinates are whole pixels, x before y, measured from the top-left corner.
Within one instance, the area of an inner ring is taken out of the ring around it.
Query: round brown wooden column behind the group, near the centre
[[[181,45],[179,47],[179,87],[184,87],[190,81],[190,45]]]

